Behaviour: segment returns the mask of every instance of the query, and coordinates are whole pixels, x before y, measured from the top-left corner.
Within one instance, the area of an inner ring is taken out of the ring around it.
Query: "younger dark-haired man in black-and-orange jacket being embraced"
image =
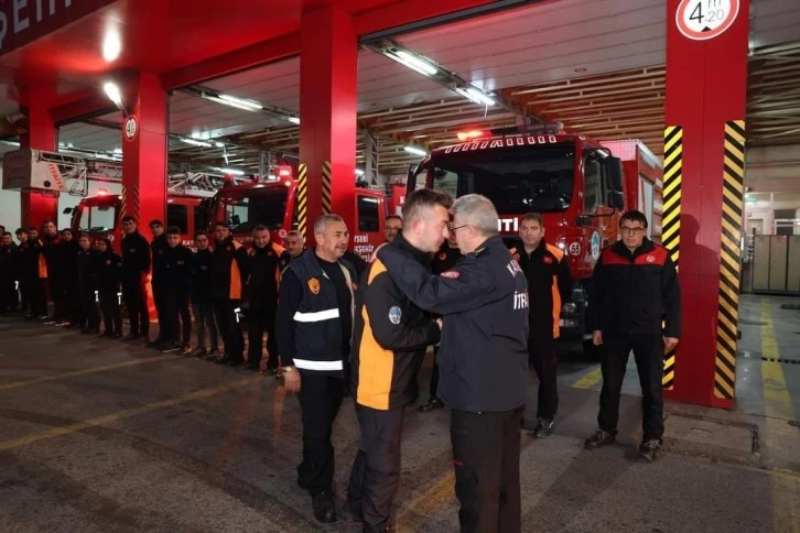
[[[430,271],[431,253],[447,238],[450,196],[423,188],[403,205],[406,227],[389,247]],[[439,342],[431,314],[414,305],[376,259],[356,293],[353,390],[361,440],[347,486],[346,512],[364,532],[391,527],[391,502],[400,479],[400,442],[406,406],[417,400],[425,349]]]

